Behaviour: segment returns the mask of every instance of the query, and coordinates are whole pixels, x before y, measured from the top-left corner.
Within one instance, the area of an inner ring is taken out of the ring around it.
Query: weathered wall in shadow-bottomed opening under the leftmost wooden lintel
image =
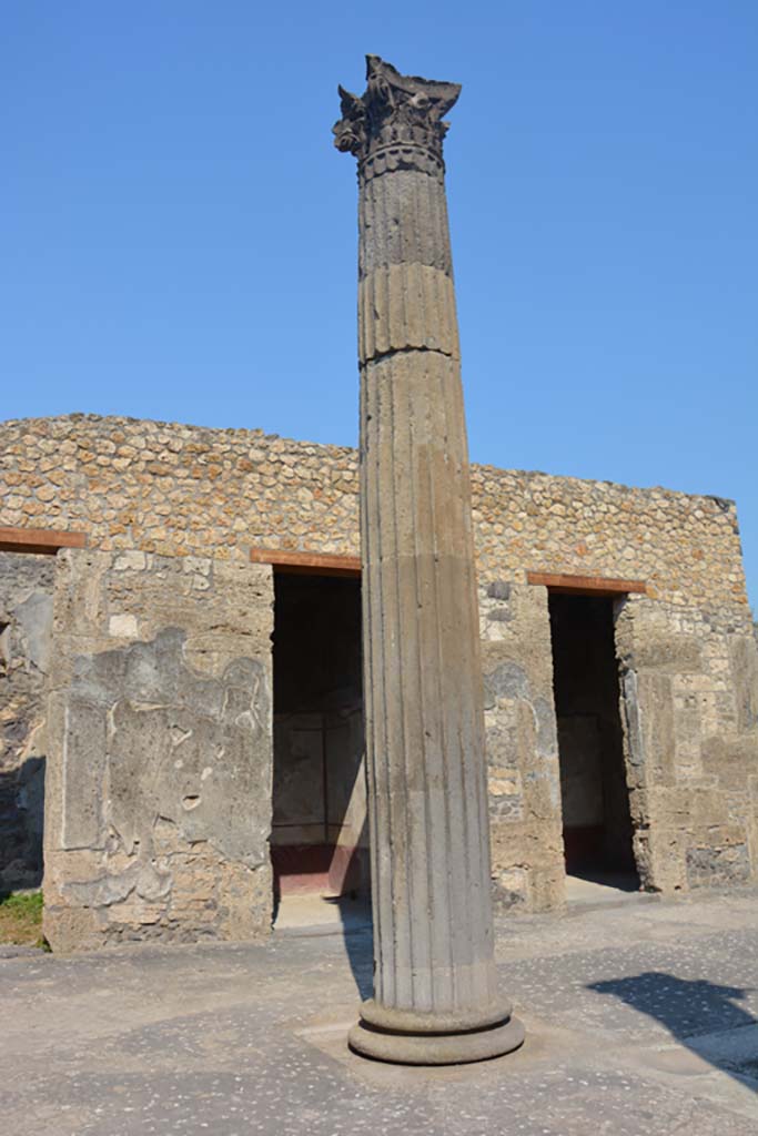
[[[42,879],[50,557],[0,552],[0,893]]]

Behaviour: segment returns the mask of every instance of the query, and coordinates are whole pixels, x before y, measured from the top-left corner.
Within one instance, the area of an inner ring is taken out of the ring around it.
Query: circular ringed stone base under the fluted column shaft
[[[360,1020],[348,1035],[361,1056],[395,1064],[465,1064],[517,1050],[524,1027],[510,1008],[493,1013],[415,1013],[364,1002]]]

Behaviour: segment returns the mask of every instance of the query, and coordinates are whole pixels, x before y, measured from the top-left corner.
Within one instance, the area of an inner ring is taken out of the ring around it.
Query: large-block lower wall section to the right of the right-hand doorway
[[[642,882],[758,876],[758,649],[749,615],[630,596],[616,624]]]

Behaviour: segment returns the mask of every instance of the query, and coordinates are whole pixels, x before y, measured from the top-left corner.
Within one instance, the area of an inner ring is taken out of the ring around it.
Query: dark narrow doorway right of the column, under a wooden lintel
[[[614,600],[551,593],[549,603],[566,870],[638,887]]]

